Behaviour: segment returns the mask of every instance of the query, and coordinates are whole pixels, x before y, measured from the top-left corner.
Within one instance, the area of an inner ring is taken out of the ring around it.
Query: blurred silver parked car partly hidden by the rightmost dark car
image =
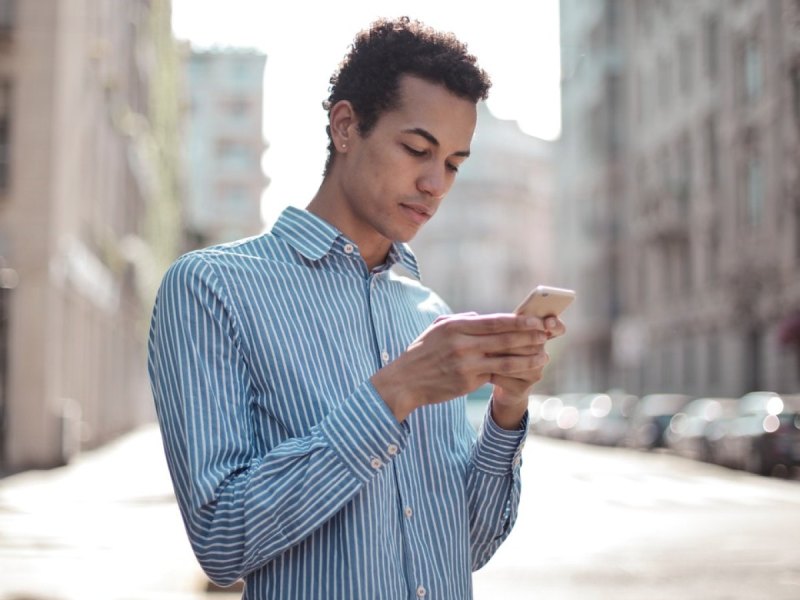
[[[679,456],[710,461],[708,435],[720,419],[730,420],[738,410],[737,398],[696,398],[675,414],[664,432],[664,441]]]

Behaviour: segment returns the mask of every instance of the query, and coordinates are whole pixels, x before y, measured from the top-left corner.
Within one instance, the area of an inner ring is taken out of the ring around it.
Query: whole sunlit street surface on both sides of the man
[[[800,482],[532,437],[514,532],[478,600],[800,598]],[[0,600],[207,593],[150,426],[0,480]]]

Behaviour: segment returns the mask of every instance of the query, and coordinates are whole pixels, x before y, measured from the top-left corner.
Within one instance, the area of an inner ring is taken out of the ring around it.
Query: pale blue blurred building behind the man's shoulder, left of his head
[[[192,247],[257,235],[264,228],[265,63],[266,56],[254,50],[189,51],[184,218]]]

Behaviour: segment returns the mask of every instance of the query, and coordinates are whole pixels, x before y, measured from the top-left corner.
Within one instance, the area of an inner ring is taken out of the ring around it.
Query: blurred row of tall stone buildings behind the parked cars
[[[561,35],[561,387],[797,390],[800,3],[562,0]]]

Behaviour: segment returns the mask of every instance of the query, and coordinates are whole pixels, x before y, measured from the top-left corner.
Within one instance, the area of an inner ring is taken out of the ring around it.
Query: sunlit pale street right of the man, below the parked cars
[[[532,438],[476,598],[800,598],[800,483]]]

